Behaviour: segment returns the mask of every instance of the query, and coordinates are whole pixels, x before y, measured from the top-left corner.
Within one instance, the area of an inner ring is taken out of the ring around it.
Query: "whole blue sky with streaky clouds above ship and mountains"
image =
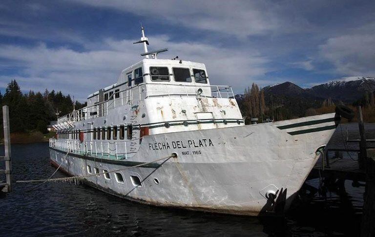
[[[210,83],[242,93],[375,76],[374,0],[1,0],[0,91],[62,91],[84,101],[143,59],[206,64]]]

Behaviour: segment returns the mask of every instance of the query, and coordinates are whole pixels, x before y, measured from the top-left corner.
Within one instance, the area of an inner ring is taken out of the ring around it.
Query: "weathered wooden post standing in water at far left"
[[[10,153],[9,107],[7,105],[2,106],[2,120],[4,125],[6,192],[10,193],[12,191],[12,162]]]

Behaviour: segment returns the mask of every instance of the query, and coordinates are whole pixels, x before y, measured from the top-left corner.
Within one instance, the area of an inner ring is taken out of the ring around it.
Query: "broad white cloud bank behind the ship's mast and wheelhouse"
[[[154,36],[150,40],[151,50],[169,48],[160,58],[178,55],[183,60],[203,62],[212,84],[230,84],[238,92],[267,72],[268,59],[256,51],[173,42],[167,36]],[[142,46],[133,45],[133,41],[107,38],[98,42],[101,47],[90,44],[84,52],[66,47],[50,48],[43,43],[32,47],[0,45],[0,69],[17,69],[17,73],[1,76],[4,82],[0,86],[5,87],[10,79],[16,79],[22,89],[62,90],[84,100],[88,94],[115,83],[122,69],[142,59]]]

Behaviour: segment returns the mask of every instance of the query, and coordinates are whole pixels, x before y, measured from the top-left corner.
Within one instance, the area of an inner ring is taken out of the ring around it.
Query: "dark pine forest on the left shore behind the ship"
[[[85,104],[78,101],[74,103],[76,109],[85,106]],[[11,133],[33,131],[47,133],[47,125],[51,121],[57,120],[57,117],[68,114],[73,110],[73,100],[70,95],[65,96],[61,91],[55,92],[47,89],[45,89],[43,94],[34,91],[22,93],[16,80],[11,80],[8,83],[4,95],[0,92],[0,105],[9,106]],[[2,110],[0,118],[2,118]]]

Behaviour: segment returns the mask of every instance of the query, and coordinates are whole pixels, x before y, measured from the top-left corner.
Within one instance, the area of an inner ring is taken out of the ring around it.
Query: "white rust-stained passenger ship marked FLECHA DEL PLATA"
[[[284,213],[342,115],[245,124],[232,88],[204,63],[145,58],[87,106],[58,118],[50,162],[89,186],[139,203],[214,213]]]

